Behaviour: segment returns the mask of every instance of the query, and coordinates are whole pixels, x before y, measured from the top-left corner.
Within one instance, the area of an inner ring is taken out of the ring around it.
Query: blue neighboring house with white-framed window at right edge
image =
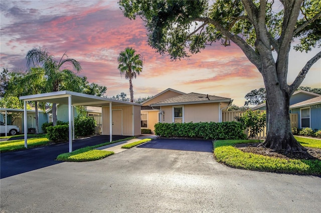
[[[321,129],[321,95],[290,105],[291,113],[298,115],[298,127]]]

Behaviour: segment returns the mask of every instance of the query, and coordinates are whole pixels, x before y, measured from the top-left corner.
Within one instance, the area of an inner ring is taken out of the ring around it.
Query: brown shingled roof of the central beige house
[[[209,94],[201,94],[191,92],[188,94],[182,94],[176,97],[172,97],[166,100],[162,100],[153,104],[151,106],[157,105],[177,105],[177,104],[194,104],[194,103],[206,103],[206,102],[220,102],[220,101],[230,101],[229,97],[220,97]]]

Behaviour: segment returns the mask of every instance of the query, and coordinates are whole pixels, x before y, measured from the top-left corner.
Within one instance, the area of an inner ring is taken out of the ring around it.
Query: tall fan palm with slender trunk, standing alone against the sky
[[[142,71],[142,56],[140,54],[135,54],[135,49],[132,47],[126,47],[124,51],[119,53],[117,58],[118,69],[120,75],[125,75],[125,79],[129,79],[129,92],[130,92],[130,102],[134,102],[134,91],[131,79],[136,78],[137,74]]]

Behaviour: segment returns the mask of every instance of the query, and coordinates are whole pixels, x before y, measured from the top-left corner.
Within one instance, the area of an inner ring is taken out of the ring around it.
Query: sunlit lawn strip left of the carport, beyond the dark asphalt
[[[14,136],[12,137],[14,138]],[[48,142],[49,140],[47,137],[38,137],[38,135],[33,138],[27,139],[28,148],[47,145]],[[7,140],[0,142],[0,152],[16,151],[21,149],[26,149],[25,139]]]

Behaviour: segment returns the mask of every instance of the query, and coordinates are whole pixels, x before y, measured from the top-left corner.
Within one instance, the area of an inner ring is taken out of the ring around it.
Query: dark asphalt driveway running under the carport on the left
[[[113,140],[128,136],[113,135]],[[97,145],[109,141],[109,135],[95,135],[73,141],[73,150]],[[3,152],[0,155],[1,178],[32,171],[46,166],[61,163],[56,157],[69,151],[69,142],[25,149],[21,151]]]

